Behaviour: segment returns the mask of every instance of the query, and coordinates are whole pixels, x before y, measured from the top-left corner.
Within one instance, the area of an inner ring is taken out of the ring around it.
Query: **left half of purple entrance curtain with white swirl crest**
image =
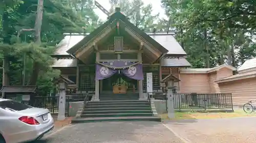
[[[117,71],[118,70],[114,70],[114,69],[107,68],[107,67],[101,66],[99,64],[96,64],[95,79],[101,80],[101,79],[109,78],[112,75],[114,75]]]

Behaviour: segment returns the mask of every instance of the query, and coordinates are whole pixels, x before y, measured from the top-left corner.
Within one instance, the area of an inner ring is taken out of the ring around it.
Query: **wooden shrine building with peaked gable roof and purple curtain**
[[[146,98],[146,73],[152,73],[153,89],[169,74],[179,79],[179,69],[190,67],[175,33],[144,33],[116,8],[108,21],[90,34],[64,34],[52,54],[53,68],[75,82],[77,91],[137,93]],[[174,83],[179,90],[179,82]]]

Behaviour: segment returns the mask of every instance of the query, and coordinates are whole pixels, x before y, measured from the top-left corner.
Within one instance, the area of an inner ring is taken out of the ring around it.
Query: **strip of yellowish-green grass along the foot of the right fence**
[[[160,115],[161,119],[169,119],[168,113]],[[234,112],[207,112],[207,111],[187,111],[175,112],[175,119],[219,119],[219,118],[236,118],[236,117],[256,117],[256,113],[246,113],[244,110],[235,110]],[[170,119],[172,120],[172,119]]]

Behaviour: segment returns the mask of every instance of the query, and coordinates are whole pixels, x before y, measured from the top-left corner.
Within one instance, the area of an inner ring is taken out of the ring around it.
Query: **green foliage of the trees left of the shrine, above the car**
[[[6,6],[0,7],[5,14],[0,14],[3,17],[0,19],[0,30],[4,33],[0,40],[3,39],[5,43],[0,45],[0,57],[2,60],[5,54],[10,59],[10,84],[22,84],[23,61],[26,56],[25,83],[29,82],[33,63],[37,62],[40,65],[36,83],[39,94],[47,95],[52,91],[52,79],[58,77],[60,71],[51,68],[53,61],[50,54],[56,49],[55,45],[62,40],[63,33],[90,33],[101,23],[93,12],[92,4],[91,0],[44,0],[41,44],[37,45],[33,42],[37,1],[0,2],[1,6]],[[2,72],[0,77],[2,79]]]

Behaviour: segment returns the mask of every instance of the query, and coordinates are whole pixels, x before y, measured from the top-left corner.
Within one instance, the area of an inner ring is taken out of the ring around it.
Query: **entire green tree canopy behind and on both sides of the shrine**
[[[38,2],[44,3],[40,44],[35,42],[34,32]],[[109,0],[109,11],[113,13],[119,5],[121,12],[144,32],[156,30],[166,33],[168,27],[175,30],[175,37],[194,68],[210,68],[224,63],[237,67],[256,56],[256,1],[161,2],[169,19],[154,15],[153,6],[144,5],[142,0]],[[63,39],[63,33],[90,33],[103,23],[94,13],[95,8],[93,0],[1,1],[0,60],[6,63],[6,82],[10,85],[22,84],[23,67],[26,67],[26,84],[33,79],[42,94],[51,91],[51,80],[59,75],[59,71],[51,68],[50,54]],[[35,67],[35,63],[39,66]]]

